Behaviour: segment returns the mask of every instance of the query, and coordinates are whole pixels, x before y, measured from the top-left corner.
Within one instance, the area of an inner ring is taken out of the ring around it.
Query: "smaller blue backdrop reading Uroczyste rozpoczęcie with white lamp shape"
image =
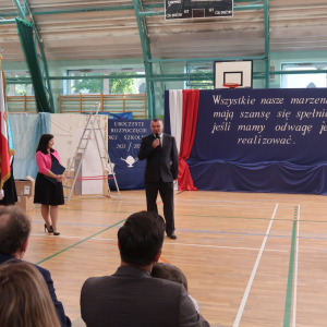
[[[144,189],[146,161],[140,161],[137,154],[142,137],[150,133],[150,120],[108,120],[108,150],[120,190]],[[116,190],[113,180],[109,180],[109,185]]]

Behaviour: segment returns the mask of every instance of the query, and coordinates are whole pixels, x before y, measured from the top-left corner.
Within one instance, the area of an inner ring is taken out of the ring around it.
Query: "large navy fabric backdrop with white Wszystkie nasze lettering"
[[[201,90],[187,164],[199,190],[327,194],[326,146],[326,89]]]

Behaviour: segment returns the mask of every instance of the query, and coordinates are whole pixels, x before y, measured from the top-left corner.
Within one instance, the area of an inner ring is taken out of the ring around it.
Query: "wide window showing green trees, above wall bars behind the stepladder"
[[[114,75],[137,76],[141,69],[70,70],[69,76],[108,76],[108,78],[81,78],[68,81],[68,94],[144,94],[145,78],[110,78]]]

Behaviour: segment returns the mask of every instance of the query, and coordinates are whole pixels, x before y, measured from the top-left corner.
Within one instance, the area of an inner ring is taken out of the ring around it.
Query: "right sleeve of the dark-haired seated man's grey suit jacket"
[[[181,286],[180,292],[180,327],[210,327],[209,323],[197,313],[192,300],[190,299],[185,288]]]

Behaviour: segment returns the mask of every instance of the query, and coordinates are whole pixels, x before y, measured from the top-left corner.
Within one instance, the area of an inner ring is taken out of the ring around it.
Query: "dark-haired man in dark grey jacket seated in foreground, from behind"
[[[121,266],[112,276],[88,278],[81,293],[87,327],[209,327],[183,284],[152,278],[161,255],[164,218],[141,211],[118,231]]]

